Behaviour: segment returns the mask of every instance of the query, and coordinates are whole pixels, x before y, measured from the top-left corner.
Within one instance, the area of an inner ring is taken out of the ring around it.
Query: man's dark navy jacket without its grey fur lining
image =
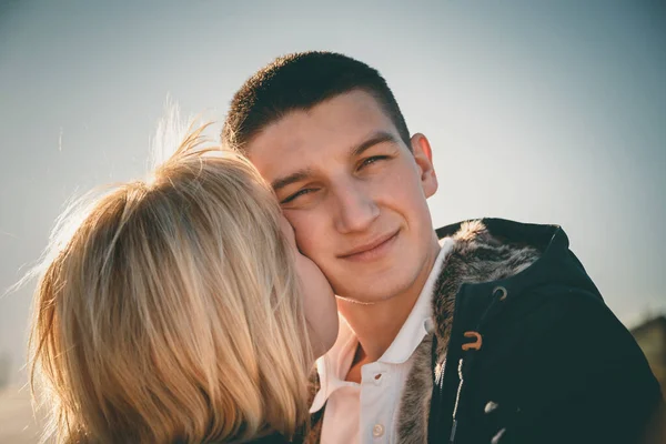
[[[432,349],[433,371],[437,362],[444,371],[434,381],[428,442],[639,442],[663,403],[659,385],[569,251],[564,231],[482,222],[502,243],[531,245],[541,255],[515,275],[463,283],[455,293],[446,354],[437,356],[436,344]],[[476,342],[465,332],[477,333],[481,347],[463,350]]]

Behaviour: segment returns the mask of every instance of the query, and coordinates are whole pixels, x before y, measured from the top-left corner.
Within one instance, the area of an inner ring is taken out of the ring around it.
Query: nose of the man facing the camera
[[[337,215],[335,228],[346,234],[367,230],[380,215],[372,194],[362,183],[351,181],[335,190]]]

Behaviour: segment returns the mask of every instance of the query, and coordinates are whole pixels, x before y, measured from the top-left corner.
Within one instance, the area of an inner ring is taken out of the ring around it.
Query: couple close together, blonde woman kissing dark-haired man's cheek
[[[225,149],[200,134],[53,241],[31,352],[60,442],[643,440],[658,383],[564,231],[434,230],[376,70],[276,59]]]

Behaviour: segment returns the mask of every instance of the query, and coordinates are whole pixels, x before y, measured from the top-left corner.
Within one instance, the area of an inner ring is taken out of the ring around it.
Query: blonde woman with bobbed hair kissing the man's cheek
[[[31,379],[59,443],[281,442],[306,422],[333,293],[271,188],[201,131],[52,236]]]

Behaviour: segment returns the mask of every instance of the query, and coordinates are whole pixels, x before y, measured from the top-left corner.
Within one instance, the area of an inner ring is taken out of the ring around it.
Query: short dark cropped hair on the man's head
[[[280,57],[248,79],[231,101],[222,142],[245,152],[248,142],[290,111],[310,110],[355,90],[374,97],[411,149],[405,119],[379,71],[350,57],[323,51]]]

